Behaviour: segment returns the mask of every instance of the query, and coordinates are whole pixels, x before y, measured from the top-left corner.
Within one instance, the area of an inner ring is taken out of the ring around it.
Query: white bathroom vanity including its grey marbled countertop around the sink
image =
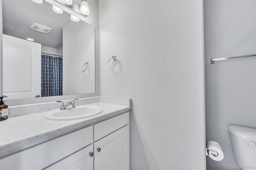
[[[92,98],[78,104],[101,107],[96,116],[51,121],[42,112],[1,122],[0,169],[128,170],[130,99]]]

